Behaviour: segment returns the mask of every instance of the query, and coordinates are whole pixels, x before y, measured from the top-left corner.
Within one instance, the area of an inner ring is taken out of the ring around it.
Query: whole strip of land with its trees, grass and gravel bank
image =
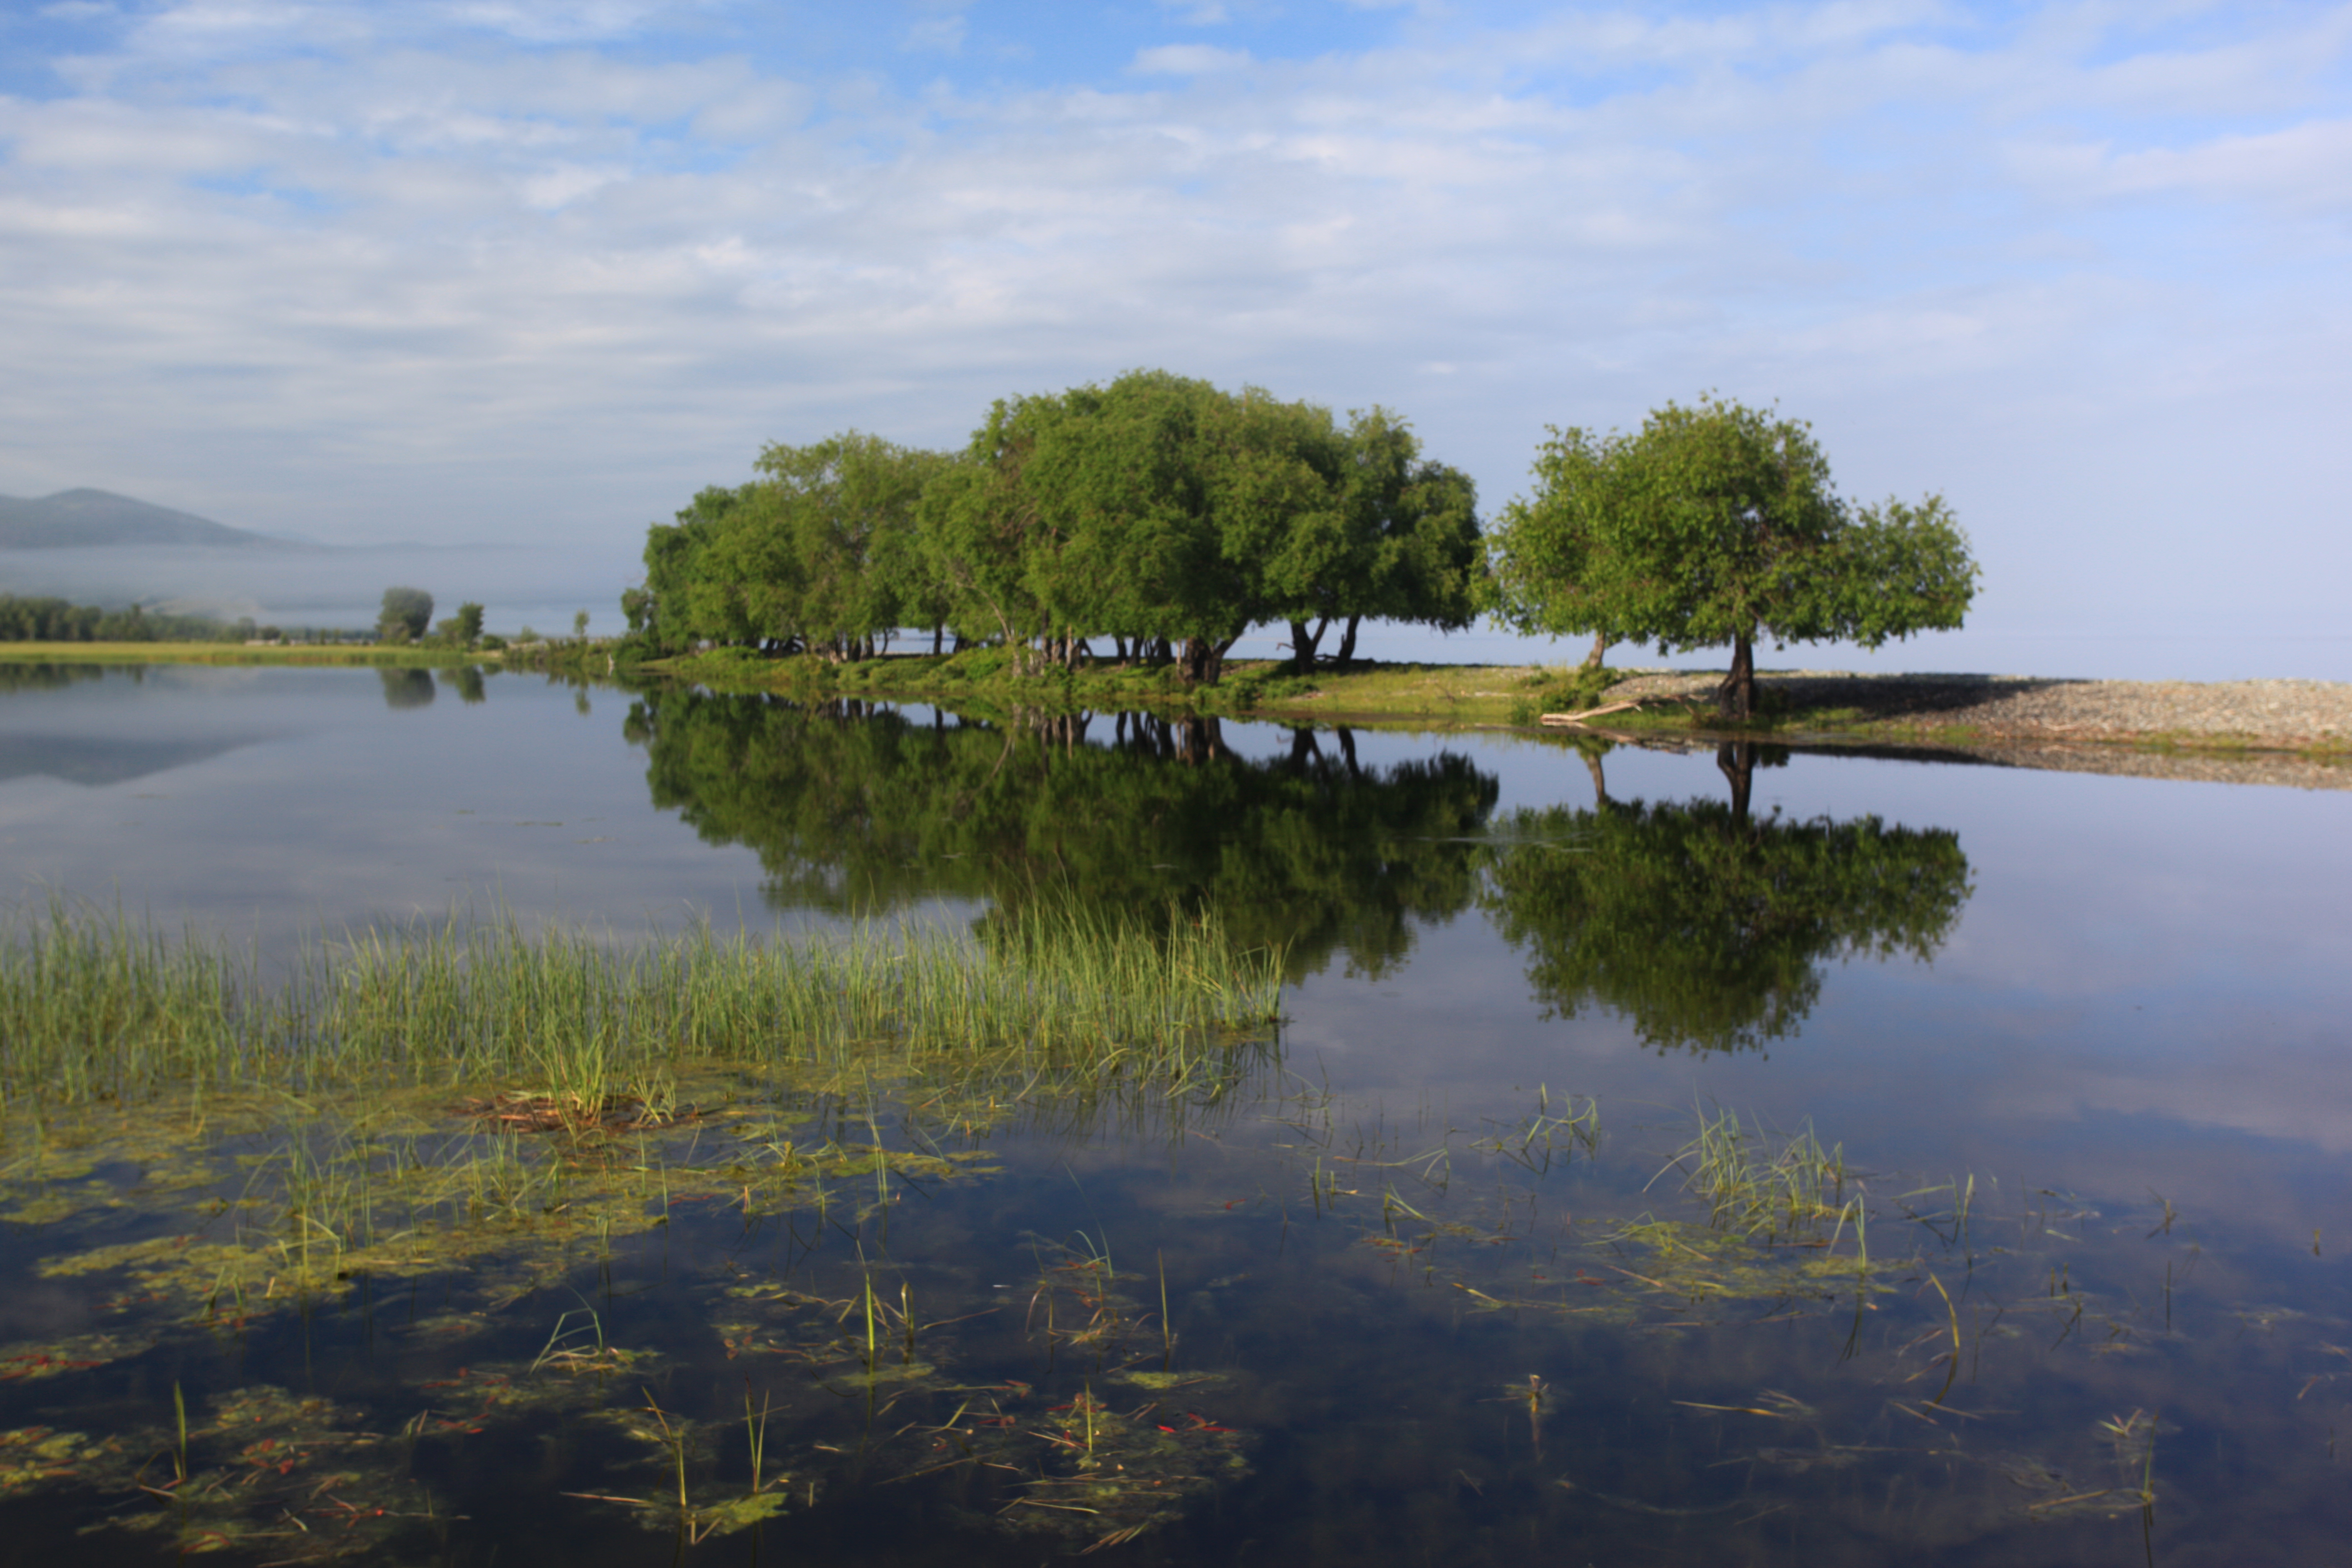
[[[0,661],[376,663],[682,679],[981,715],[1564,722],[1578,733],[1929,745],[2079,766],[2084,748],[2291,755],[2345,783],[2352,686],[1757,668],[1757,644],[1962,625],[1978,564],[1938,494],[1853,503],[1813,430],[1700,395],[1635,430],[1552,428],[1482,522],[1399,414],[1338,416],[1160,369],[995,402],[955,451],[842,430],[649,524],[628,630],[492,632],[390,588],[372,630],[294,632],[0,599]],[[1581,665],[1381,663],[1367,621],[1590,637]],[[1258,628],[1277,658],[1235,658]],[[285,646],[296,644],[296,646]],[[301,646],[308,644],[308,646]],[[1609,668],[1611,646],[1729,668]],[[2060,757],[2053,748],[2067,748]],[[2100,762],[2098,766],[2110,766]]]

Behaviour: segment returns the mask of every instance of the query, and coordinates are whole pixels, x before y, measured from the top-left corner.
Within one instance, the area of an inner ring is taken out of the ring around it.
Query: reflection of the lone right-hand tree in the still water
[[[1823,964],[1933,957],[1969,900],[1959,835],[1877,816],[1757,820],[1755,769],[1785,759],[1724,745],[1729,804],[1644,804],[1609,799],[1588,755],[1590,809],[1501,823],[1512,842],[1494,851],[1479,903],[1552,1016],[1602,1006],[1658,1048],[1759,1048],[1797,1032]]]

